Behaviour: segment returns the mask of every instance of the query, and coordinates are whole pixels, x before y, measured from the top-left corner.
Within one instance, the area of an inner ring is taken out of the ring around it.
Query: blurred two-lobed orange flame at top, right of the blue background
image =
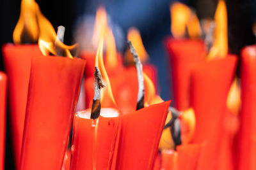
[[[185,4],[175,2],[170,6],[171,32],[174,38],[184,38],[186,29],[190,38],[199,38],[201,34],[200,23],[196,14]]]

